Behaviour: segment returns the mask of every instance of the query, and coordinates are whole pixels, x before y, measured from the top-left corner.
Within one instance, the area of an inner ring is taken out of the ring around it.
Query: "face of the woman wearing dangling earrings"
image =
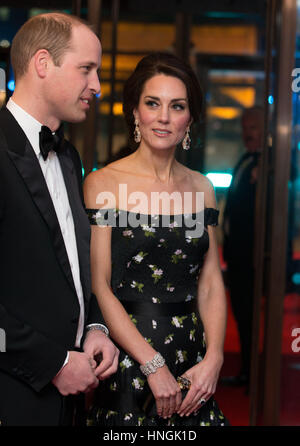
[[[191,123],[187,91],[177,77],[157,74],[149,79],[134,117],[141,132],[141,145],[166,150],[176,147]]]

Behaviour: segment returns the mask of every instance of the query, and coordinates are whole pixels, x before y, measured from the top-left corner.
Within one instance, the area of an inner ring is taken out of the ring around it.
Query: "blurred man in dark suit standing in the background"
[[[234,168],[224,210],[223,255],[227,262],[227,285],[241,347],[241,370],[224,377],[223,384],[248,385],[252,343],[254,292],[254,218],[259,156],[262,149],[263,109],[245,109],[242,135],[246,152]]]

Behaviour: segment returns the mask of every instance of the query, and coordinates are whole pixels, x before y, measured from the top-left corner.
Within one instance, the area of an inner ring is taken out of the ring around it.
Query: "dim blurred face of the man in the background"
[[[245,115],[242,119],[243,140],[248,152],[256,152],[262,148],[263,116],[259,113]]]

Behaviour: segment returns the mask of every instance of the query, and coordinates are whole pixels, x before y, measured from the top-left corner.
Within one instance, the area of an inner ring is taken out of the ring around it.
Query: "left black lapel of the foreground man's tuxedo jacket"
[[[3,115],[1,115],[2,117]],[[70,285],[76,291],[59,222],[38,159],[12,115],[7,112],[5,118],[4,124],[7,124],[7,126],[3,127],[3,133],[8,145],[8,156],[23,178],[32,200],[45,220],[53,240],[57,259]],[[0,123],[1,121],[3,122],[3,119],[0,120]]]

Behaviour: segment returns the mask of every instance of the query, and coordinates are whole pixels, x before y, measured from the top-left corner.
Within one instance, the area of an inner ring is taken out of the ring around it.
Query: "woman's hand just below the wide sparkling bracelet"
[[[181,390],[168,367],[163,367],[148,376],[148,384],[156,401],[157,414],[170,418],[181,405]]]

